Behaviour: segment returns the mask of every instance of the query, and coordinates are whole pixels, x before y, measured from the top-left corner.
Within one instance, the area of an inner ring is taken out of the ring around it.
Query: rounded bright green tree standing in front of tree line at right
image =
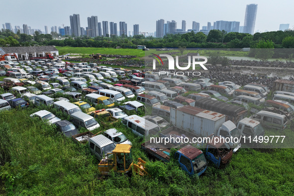
[[[266,61],[274,55],[274,42],[267,40],[260,40],[255,45],[255,58],[260,59],[262,61]]]

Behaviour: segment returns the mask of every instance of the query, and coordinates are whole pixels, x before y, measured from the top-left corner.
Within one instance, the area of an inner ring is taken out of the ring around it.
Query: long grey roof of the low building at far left
[[[54,46],[1,47],[6,53],[51,52],[58,51]]]

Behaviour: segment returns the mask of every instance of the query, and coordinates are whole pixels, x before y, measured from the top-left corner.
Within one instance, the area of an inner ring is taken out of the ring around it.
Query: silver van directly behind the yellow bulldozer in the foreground
[[[107,159],[107,157],[112,158],[112,155],[109,157],[107,156],[107,153],[112,153],[115,148],[115,144],[113,141],[100,134],[89,139],[89,148],[100,161],[101,159]]]

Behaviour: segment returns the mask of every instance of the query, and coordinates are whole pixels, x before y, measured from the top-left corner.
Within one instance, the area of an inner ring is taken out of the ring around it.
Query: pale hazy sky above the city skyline
[[[251,3],[258,4],[255,32],[279,30],[284,23],[294,28],[294,0],[13,0],[2,3],[9,6],[0,11],[0,28],[8,22],[13,28],[27,24],[41,31],[46,25],[50,31],[51,26],[70,26],[74,13],[80,14],[84,28],[92,15],[98,16],[98,22],[125,21],[128,31],[139,24],[141,32],[154,32],[158,19],[175,20],[177,28],[186,20],[186,30],[192,28],[192,21],[199,22],[200,29],[216,20],[240,21],[243,26],[246,5]]]

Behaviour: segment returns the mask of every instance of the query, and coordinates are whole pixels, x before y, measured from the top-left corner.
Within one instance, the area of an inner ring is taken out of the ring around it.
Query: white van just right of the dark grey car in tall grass
[[[100,125],[93,116],[90,116],[89,114],[86,114],[82,111],[72,113],[70,121],[77,127],[81,126],[88,129],[89,131],[92,131],[100,127]]]

